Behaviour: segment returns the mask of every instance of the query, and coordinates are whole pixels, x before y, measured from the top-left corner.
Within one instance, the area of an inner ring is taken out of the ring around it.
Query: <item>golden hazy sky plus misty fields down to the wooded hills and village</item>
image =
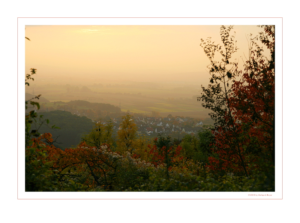
[[[236,59],[246,59],[246,35],[259,31],[234,26]],[[205,118],[196,96],[209,83],[209,60],[199,44],[207,37],[221,42],[219,32],[220,26],[26,26],[25,72],[37,69],[26,92],[49,101],[121,104],[123,112]]]

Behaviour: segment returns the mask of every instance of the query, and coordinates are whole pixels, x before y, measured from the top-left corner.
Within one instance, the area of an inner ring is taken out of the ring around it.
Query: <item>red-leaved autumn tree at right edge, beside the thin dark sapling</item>
[[[263,56],[262,47],[256,43],[258,40],[270,51],[269,58]],[[274,26],[264,26],[264,32],[259,37],[250,39],[250,57],[244,64],[244,70],[238,71],[235,63],[233,70],[219,68],[220,74],[225,75],[214,80],[224,84],[222,92],[225,93],[222,95],[223,104],[210,106],[217,117],[215,120],[221,117],[221,122],[216,123],[213,131],[216,142],[211,149],[216,156],[209,158],[208,167],[211,170],[246,175],[254,170],[274,173],[274,41]],[[228,72],[234,75],[229,77]],[[231,86],[228,84],[230,81]],[[207,99],[205,97],[202,99]]]

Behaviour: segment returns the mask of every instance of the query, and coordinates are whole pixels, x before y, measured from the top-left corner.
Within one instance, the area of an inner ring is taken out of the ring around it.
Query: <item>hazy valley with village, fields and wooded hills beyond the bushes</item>
[[[199,131],[199,126],[213,124],[207,110],[197,102],[196,95],[190,98],[162,98],[163,96],[170,96],[170,90],[166,89],[152,89],[155,93],[149,89],[146,91],[148,94],[143,95],[138,92],[145,92],[145,89],[142,88],[143,84],[141,85],[139,87],[138,84],[130,86],[119,84],[111,86],[109,84],[104,87],[103,84],[94,84],[79,87],[69,84],[47,84],[38,87],[34,85],[28,90],[32,89],[32,92],[42,93],[39,99],[34,100],[40,105],[37,112],[38,115],[43,115],[44,119],[50,120],[49,125],[41,125],[39,132],[51,133],[52,137],[56,138],[54,145],[63,150],[79,144],[84,134],[88,134],[94,123],[97,122],[102,122],[104,125],[112,122],[114,125],[113,137],[116,138],[121,116],[124,116],[125,113],[131,114],[135,118],[135,124],[138,127],[137,134],[148,138],[163,134],[181,140],[185,134],[196,134]],[[133,92],[138,93],[113,93],[120,89],[127,92],[133,90]],[[188,92],[187,89],[190,90],[191,86],[177,87],[176,89],[177,94],[180,95],[180,92]],[[100,90],[111,92],[97,92]],[[194,87],[193,91],[196,90]],[[189,94],[192,94],[193,91]],[[182,93],[182,95],[184,94]],[[161,98],[155,96],[161,96]],[[26,93],[25,97],[26,100],[29,100],[35,95]],[[105,104],[107,102],[115,102],[116,106]],[[122,109],[120,109],[120,105]],[[29,106],[26,112],[32,109],[35,108]],[[52,125],[59,127],[59,129],[50,128],[49,126]]]

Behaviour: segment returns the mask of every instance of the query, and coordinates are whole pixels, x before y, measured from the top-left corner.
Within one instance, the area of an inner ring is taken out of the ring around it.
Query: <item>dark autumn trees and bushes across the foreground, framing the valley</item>
[[[147,138],[137,135],[127,113],[114,137],[111,122],[92,123],[67,111],[27,112],[25,191],[275,191],[275,26],[261,27],[258,36],[250,35],[244,64],[232,56],[237,50],[232,26],[221,26],[220,44],[201,39],[211,78],[195,100],[214,124],[197,134]],[[35,73],[32,68],[26,75],[26,85]],[[39,98],[26,100],[26,110],[39,110]],[[103,106],[84,103],[67,106]],[[74,125],[55,120],[57,113]],[[52,122],[57,124],[50,127]],[[60,137],[72,131],[80,143],[59,149],[46,128],[60,131]]]

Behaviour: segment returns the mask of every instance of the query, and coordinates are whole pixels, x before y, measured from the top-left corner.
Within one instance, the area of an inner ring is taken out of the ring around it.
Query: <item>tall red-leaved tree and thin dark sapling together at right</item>
[[[201,39],[200,45],[210,60],[211,84],[202,87],[198,100],[212,110],[210,116],[215,121],[215,143],[211,148],[217,157],[209,158],[211,170],[246,176],[260,170],[274,176],[275,28],[262,27],[264,31],[250,39],[244,70],[238,70],[237,62],[231,62],[232,53],[237,50],[234,35],[229,35],[232,26],[221,27],[223,46],[210,38]],[[268,48],[267,58],[258,41]],[[214,60],[215,53],[222,57],[220,62]]]

